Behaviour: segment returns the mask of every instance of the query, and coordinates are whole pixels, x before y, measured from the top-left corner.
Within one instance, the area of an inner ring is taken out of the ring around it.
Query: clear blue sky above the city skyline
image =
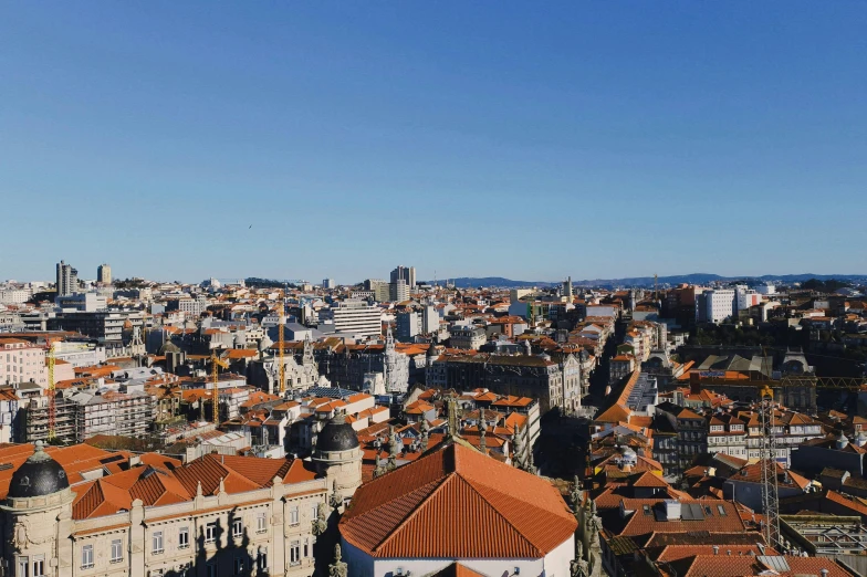
[[[863,0],[0,3],[0,280],[861,274],[866,185]]]

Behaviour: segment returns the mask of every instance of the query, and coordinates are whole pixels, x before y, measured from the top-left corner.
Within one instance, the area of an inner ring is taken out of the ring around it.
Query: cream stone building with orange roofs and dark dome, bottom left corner
[[[21,463],[22,449],[0,450],[20,463],[0,472],[6,575],[313,575],[327,483],[303,461],[209,454],[181,466],[38,443]]]

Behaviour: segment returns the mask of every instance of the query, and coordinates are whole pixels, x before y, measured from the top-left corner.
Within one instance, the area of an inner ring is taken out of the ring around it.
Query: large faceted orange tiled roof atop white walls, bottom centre
[[[374,557],[540,558],[577,526],[556,489],[459,443],[362,485],[341,534]]]

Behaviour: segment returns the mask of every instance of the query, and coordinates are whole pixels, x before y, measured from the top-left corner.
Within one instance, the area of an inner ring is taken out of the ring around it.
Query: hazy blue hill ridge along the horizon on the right
[[[691,273],[691,274],[680,274],[673,276],[660,276],[659,284],[660,285],[676,285],[676,284],[709,284],[714,281],[717,282],[725,282],[725,281],[780,281],[783,283],[797,283],[808,281],[811,279],[816,279],[818,281],[828,281],[831,279],[835,279],[837,281],[863,281],[867,279],[867,274],[813,274],[813,273],[804,273],[804,274],[765,274],[762,276],[721,276],[719,274],[713,273]],[[433,281],[426,281],[427,284],[431,284]],[[443,284],[445,281],[438,281],[440,284]],[[502,276],[483,276],[483,277],[473,277],[473,276],[461,276],[460,279],[451,279],[451,283],[455,284],[458,288],[473,288],[478,286],[497,286],[503,288],[526,288],[531,286],[540,286],[540,287],[547,287],[547,286],[556,286],[560,284],[560,281],[551,282],[551,281],[513,281],[512,279],[504,279]],[[652,286],[654,285],[654,277],[652,276],[633,276],[626,279],[592,279],[592,280],[584,280],[584,281],[573,281],[573,285],[575,286]]]

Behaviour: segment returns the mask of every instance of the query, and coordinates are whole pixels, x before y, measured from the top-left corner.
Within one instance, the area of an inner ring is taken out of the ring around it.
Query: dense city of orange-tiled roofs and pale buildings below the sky
[[[0,285],[3,515],[33,575],[867,560],[867,277],[92,272]]]

